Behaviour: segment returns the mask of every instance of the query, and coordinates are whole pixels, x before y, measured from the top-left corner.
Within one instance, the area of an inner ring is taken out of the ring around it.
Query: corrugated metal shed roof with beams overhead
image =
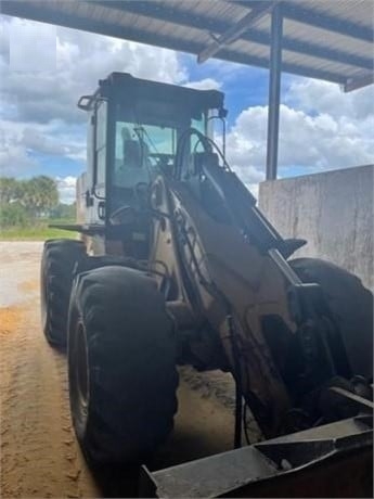
[[[263,7],[276,3],[283,14],[283,72],[335,81],[346,91],[373,82],[372,0],[2,0],[1,11],[201,60],[207,52],[269,67],[271,9]]]

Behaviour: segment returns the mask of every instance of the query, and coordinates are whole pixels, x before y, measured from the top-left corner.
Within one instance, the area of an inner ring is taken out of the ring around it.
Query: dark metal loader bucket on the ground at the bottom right
[[[165,470],[140,497],[373,497],[373,419],[359,415]]]

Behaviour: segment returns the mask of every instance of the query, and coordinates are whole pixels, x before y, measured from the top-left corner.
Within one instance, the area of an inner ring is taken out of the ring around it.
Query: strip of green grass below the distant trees
[[[74,223],[72,220],[51,220],[50,223]],[[46,239],[67,238],[77,239],[77,232],[52,229],[48,222],[31,227],[2,227],[0,241],[46,241]]]

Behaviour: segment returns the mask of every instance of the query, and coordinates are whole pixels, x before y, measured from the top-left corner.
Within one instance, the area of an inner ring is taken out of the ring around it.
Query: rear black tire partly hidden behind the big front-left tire
[[[73,270],[85,257],[81,241],[56,239],[44,243],[40,269],[41,323],[48,342],[59,348],[66,346]]]

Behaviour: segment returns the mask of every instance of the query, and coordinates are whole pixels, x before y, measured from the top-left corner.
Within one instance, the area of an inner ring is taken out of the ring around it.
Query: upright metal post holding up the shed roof
[[[271,46],[268,102],[267,180],[276,179],[282,75],[283,14],[281,5],[271,13]]]

